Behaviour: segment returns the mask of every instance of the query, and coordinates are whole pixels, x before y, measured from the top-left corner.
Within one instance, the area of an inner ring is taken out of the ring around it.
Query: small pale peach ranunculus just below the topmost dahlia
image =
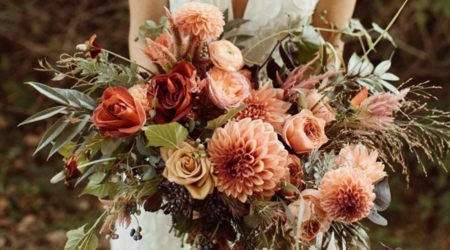
[[[216,67],[226,71],[240,70],[244,66],[241,51],[228,40],[212,42],[209,57]]]

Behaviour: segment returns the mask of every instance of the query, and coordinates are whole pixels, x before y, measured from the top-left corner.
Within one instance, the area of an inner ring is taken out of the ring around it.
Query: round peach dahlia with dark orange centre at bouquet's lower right
[[[328,218],[356,222],[374,206],[372,180],[358,168],[343,167],[325,174],[320,185],[320,206]]]

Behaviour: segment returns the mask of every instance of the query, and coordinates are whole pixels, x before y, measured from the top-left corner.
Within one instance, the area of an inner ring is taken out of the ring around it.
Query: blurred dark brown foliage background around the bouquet
[[[386,27],[402,1],[359,0],[355,18],[366,27],[376,22]],[[0,0],[0,249],[63,249],[65,232],[100,214],[99,202],[80,189],[50,185],[60,170],[61,157],[46,159],[45,150],[32,157],[40,137],[54,120],[17,128],[28,116],[53,105],[25,81],[70,87],[70,81],[52,82],[52,75],[34,71],[46,57],[54,64],[62,52],[96,33],[108,49],[128,55],[127,1],[114,0]],[[137,31],[136,31],[137,33]],[[430,80],[443,88],[431,106],[450,109],[450,3],[448,0],[412,0],[391,30],[399,48],[393,57],[394,74],[414,83]],[[360,51],[357,40],[346,44]],[[394,51],[384,41],[370,56],[373,63]],[[450,156],[447,157],[450,166]],[[379,242],[402,249],[450,249],[450,174],[433,163],[426,176],[414,158],[410,162],[410,187],[400,169],[390,174],[391,207],[383,212],[389,226],[364,221],[373,249]],[[108,249],[102,240],[101,249]]]

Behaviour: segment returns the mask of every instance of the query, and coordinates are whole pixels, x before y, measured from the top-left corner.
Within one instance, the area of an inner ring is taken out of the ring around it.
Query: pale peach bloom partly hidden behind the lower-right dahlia
[[[372,183],[376,183],[387,176],[386,172],[384,172],[384,164],[377,161],[377,158],[377,151],[369,151],[362,144],[348,145],[339,152],[337,163],[342,166],[363,170],[372,180]]]

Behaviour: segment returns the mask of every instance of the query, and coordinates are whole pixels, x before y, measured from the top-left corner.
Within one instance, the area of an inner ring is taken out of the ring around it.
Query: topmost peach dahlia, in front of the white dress
[[[175,13],[175,22],[183,36],[198,36],[202,40],[216,39],[225,22],[219,8],[206,3],[187,3]]]

